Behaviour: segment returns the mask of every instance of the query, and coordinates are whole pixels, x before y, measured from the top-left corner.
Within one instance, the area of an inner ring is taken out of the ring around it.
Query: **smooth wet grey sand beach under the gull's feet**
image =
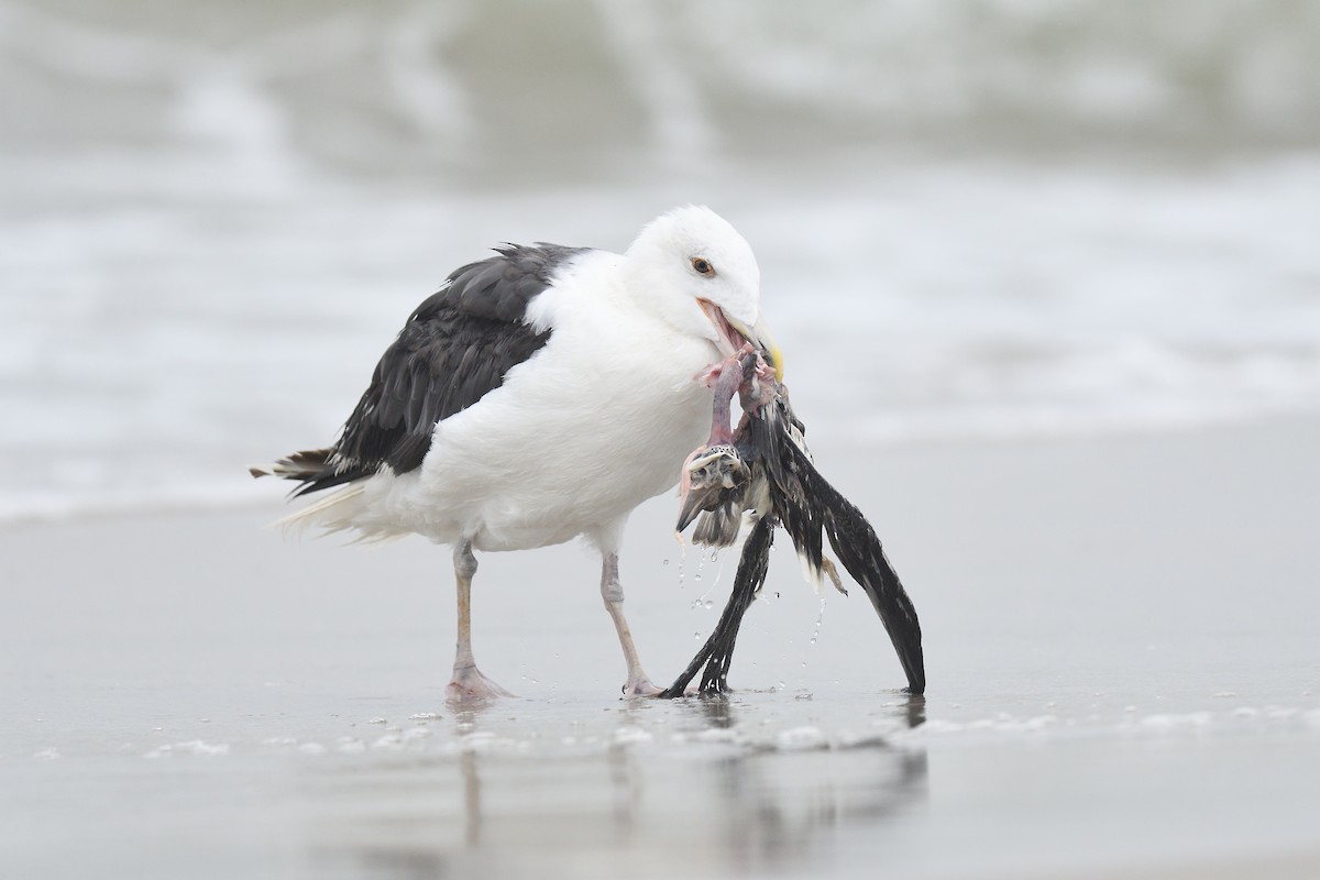
[[[1320,420],[812,439],[917,604],[925,701],[785,541],[738,693],[672,703],[616,697],[591,554],[483,557],[478,661],[520,697],[457,711],[444,549],[286,542],[268,484],[7,526],[4,876],[1320,873]],[[684,559],[673,511],[623,555],[657,681],[735,561]]]

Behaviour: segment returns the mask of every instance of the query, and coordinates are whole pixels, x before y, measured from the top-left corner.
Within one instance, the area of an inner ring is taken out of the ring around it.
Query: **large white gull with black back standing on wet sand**
[[[697,376],[750,342],[781,375],[747,241],[706,207],[661,215],[619,253],[539,243],[449,276],[385,350],[338,441],[253,467],[334,489],[285,522],[453,546],[453,699],[507,691],[471,645],[474,550],[586,538],[627,662],[626,694],[659,693],[623,616],[628,515],[678,479],[708,435]]]

